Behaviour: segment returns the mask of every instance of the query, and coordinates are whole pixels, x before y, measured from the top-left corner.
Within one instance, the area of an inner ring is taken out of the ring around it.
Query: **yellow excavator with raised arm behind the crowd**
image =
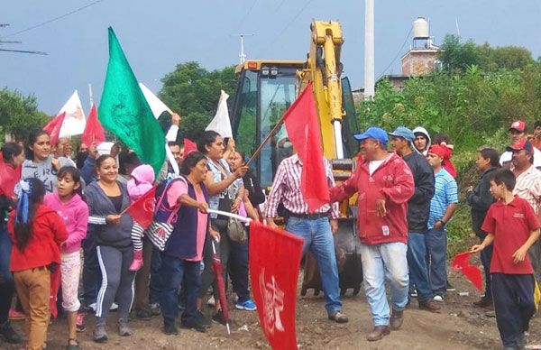
[[[342,77],[340,60],[344,36],[338,22],[313,21],[310,24],[310,50],[307,60],[246,60],[237,66],[238,83],[232,108],[232,126],[236,147],[252,154],[270,134],[281,116],[295,101],[298,93],[313,83],[316,110],[321,129],[324,155],[331,160],[336,180],[344,180],[353,170],[352,159],[358,153],[353,134],[359,131],[348,78]],[[252,162],[252,170],[263,188],[270,187],[280,161],[291,155],[285,126],[264,145],[260,155]],[[359,291],[362,272],[357,253],[358,238],[355,230],[356,209],[347,202],[341,204],[340,230],[335,235],[342,293],[353,288]],[[354,260],[354,261],[353,261]],[[350,266],[351,265],[351,266]],[[320,286],[317,271],[310,257],[305,265],[305,282],[301,294]],[[346,280],[354,280],[354,282]]]

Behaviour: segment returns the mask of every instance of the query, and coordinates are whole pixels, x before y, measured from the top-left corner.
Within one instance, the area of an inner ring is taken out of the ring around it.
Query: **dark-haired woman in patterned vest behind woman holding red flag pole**
[[[211,209],[219,209],[225,212],[236,212],[240,203],[243,201],[242,178],[246,175],[248,167],[243,166],[233,173],[229,170],[229,165],[224,160],[224,139],[220,134],[214,131],[206,131],[197,141],[197,149],[206,156],[207,167],[210,173],[206,176],[205,186],[208,191],[208,206]],[[210,226],[220,233],[219,244],[216,244],[216,251],[219,251],[220,260],[227,267],[229,255],[231,253],[231,239],[227,235],[227,216],[217,216],[210,214]],[[197,307],[201,309],[203,297],[206,290],[215,281],[215,275],[212,272],[212,239],[207,237],[205,244],[204,264],[205,270],[201,274],[201,289],[199,290],[199,299]],[[224,270],[224,281],[227,268]],[[217,290],[215,290],[215,321],[224,323],[224,316],[219,302],[217,301]],[[251,301],[248,299],[247,301]],[[252,302],[253,304],[253,302]],[[254,309],[255,305],[249,305]]]

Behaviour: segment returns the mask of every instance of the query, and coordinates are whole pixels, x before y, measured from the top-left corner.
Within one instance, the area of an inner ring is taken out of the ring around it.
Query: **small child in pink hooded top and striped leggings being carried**
[[[130,199],[136,200],[152,188],[154,170],[148,164],[142,164],[132,171],[132,179],[128,181],[128,194]],[[142,267],[142,226],[133,221],[132,243],[133,262],[130,271],[138,271]]]

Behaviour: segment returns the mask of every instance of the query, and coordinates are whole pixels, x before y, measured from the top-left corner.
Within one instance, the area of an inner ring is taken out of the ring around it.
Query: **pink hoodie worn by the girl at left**
[[[43,203],[58,213],[68,231],[68,239],[62,244],[62,253],[78,252],[81,241],[87,235],[87,203],[78,194],[64,203],[57,191],[45,195]]]

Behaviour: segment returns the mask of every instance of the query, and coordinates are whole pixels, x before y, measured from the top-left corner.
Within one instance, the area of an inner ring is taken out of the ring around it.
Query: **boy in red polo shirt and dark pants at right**
[[[506,349],[524,348],[524,332],[536,310],[534,270],[527,250],[539,238],[539,220],[526,200],[513,196],[515,182],[511,170],[494,171],[491,193],[498,201],[491,205],[481,226],[487,236],[472,246],[472,253],[477,253],[494,243],[492,299]]]

